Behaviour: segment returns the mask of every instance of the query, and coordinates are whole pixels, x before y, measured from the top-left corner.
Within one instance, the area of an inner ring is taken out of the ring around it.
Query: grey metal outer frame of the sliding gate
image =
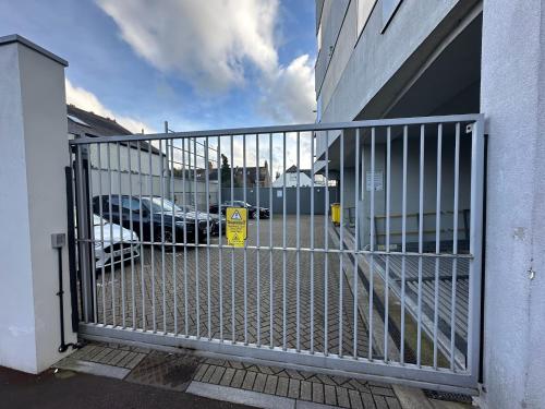
[[[129,341],[145,344],[147,346],[160,345],[169,347],[184,347],[198,349],[215,356],[238,358],[245,361],[258,361],[262,364],[290,366],[304,371],[317,371],[342,376],[359,378],[372,378],[382,382],[404,384],[415,387],[435,388],[446,392],[458,392],[475,395],[479,387],[479,371],[481,357],[481,288],[483,277],[482,251],[483,251],[483,212],[484,212],[484,115],[455,115],[438,117],[414,117],[382,120],[364,120],[341,123],[313,123],[299,125],[280,125],[264,128],[239,128],[210,131],[193,132],[168,132],[158,134],[136,134],[101,137],[81,137],[69,141],[70,148],[76,152],[75,166],[75,195],[76,203],[88,205],[88,192],[86,183],[88,178],[84,178],[82,164],[85,160],[84,151],[86,144],[93,143],[117,143],[125,141],[149,141],[149,140],[172,140],[172,139],[196,139],[196,137],[219,137],[228,135],[247,134],[272,134],[290,132],[312,132],[330,131],[346,129],[370,129],[382,127],[399,125],[423,125],[436,123],[471,122],[472,148],[471,148],[471,214],[470,214],[470,293],[468,312],[468,366],[462,372],[451,370],[433,369],[432,366],[416,365],[411,363],[398,363],[389,361],[384,363],[378,360],[370,360],[359,357],[347,358],[328,352],[311,353],[310,351],[296,351],[281,347],[257,346],[255,344],[231,342],[229,340],[208,339],[205,337],[175,335],[172,333],[154,333],[152,330],[113,327],[112,325],[90,323],[93,316],[93,289],[90,272],[90,254],[88,245],[92,243],[85,237],[93,233],[88,231],[89,212],[77,209],[77,224],[84,226],[83,233],[78,231],[76,246],[80,251],[81,277],[83,277],[84,291],[84,322],[80,323],[80,335],[88,339],[105,341]],[[83,145],[83,146],[77,146]],[[329,147],[326,147],[328,149]],[[84,181],[82,183],[82,181]],[[80,207],[80,206],[78,206]],[[85,207],[86,208],[86,207]],[[87,228],[85,229],[85,226]],[[83,239],[82,239],[83,237]],[[199,244],[205,246],[205,244]],[[378,251],[359,251],[361,254],[377,254]],[[85,322],[86,321],[86,322]]]

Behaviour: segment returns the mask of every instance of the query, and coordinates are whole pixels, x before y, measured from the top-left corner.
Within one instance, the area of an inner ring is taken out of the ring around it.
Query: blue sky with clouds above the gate
[[[66,96],[133,132],[313,122],[314,0],[0,0]]]

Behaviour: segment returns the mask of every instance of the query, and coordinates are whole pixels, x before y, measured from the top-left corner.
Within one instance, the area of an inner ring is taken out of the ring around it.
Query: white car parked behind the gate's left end
[[[112,266],[140,256],[138,236],[119,225],[93,215],[95,268]]]

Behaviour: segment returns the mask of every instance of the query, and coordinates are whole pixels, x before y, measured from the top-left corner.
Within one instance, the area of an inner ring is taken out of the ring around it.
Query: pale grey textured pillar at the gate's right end
[[[545,408],[545,4],[485,0],[483,402]]]

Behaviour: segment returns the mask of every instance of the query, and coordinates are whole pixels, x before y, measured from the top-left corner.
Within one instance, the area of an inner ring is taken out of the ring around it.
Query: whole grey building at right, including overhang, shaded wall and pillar
[[[318,56],[315,89],[318,122],[482,113],[487,134],[485,185],[485,263],[483,282],[482,407],[538,408],[545,406],[538,380],[545,360],[538,339],[545,335],[543,280],[543,75],[545,5],[543,1],[493,0],[316,0]],[[408,213],[419,206],[419,132],[409,129]],[[465,131],[461,130],[463,134]],[[427,134],[437,130],[427,128]],[[455,129],[444,129],[444,141]],[[399,213],[402,130],[391,134],[391,212]],[[385,136],[376,135],[375,171],[370,173],[371,135],[362,134],[354,154],[354,134],[316,134],[315,170],[339,179],[343,165],[344,207],[360,203],[362,245],[380,244],[384,226],[368,220],[370,191],[375,190],[375,215],[385,209]],[[436,137],[426,139],[424,192],[435,194]],[[471,212],[470,146],[460,144],[460,217]],[[343,152],[341,160],[341,154]],[[452,179],[453,146],[443,146],[443,177]],[[327,156],[326,156],[327,153]],[[432,153],[432,155],[428,155]],[[360,155],[362,169],[355,169]],[[327,157],[327,161],[325,160]],[[363,181],[355,197],[355,180]],[[370,179],[373,178],[373,182]],[[448,183],[444,183],[448,185]],[[540,188],[541,184],[541,188]],[[365,185],[367,189],[365,189]],[[411,193],[412,192],[412,193]],[[441,192],[451,203],[453,192]],[[522,202],[521,199],[524,199]],[[424,195],[424,219],[433,228],[434,197]],[[349,212],[346,212],[347,217]],[[541,216],[537,216],[541,215]],[[445,207],[441,225],[452,224]],[[371,238],[371,222],[375,237]],[[392,219],[391,229],[399,229]],[[416,240],[415,222],[408,218],[408,236]],[[448,236],[446,232],[445,234]],[[426,236],[424,233],[424,240]],[[443,240],[443,232],[441,232]],[[396,244],[396,238],[392,238]],[[537,253],[540,255],[537,255]],[[540,292],[542,291],[542,292]],[[542,316],[542,315],[540,315]]]

